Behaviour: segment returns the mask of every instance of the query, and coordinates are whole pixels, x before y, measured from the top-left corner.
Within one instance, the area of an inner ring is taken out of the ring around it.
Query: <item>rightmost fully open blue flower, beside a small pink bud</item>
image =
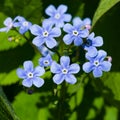
[[[83,64],[83,70],[86,73],[93,72],[93,76],[95,78],[101,77],[103,72],[102,71],[110,71],[111,63],[109,61],[105,61],[107,53],[103,50],[99,50],[95,57],[90,57],[88,53],[86,53],[86,58],[89,62]]]

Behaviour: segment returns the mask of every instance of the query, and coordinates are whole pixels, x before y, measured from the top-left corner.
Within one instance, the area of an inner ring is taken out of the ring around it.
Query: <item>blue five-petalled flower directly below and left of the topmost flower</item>
[[[30,31],[33,35],[37,36],[32,41],[37,47],[40,47],[44,43],[48,48],[55,47],[57,42],[54,37],[59,37],[61,35],[61,30],[59,28],[52,28],[52,25],[45,21],[43,21],[42,27],[33,25]]]

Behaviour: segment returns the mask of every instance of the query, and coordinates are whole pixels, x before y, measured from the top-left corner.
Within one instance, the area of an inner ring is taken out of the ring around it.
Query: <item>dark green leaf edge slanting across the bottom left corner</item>
[[[19,120],[0,87],[0,120]]]

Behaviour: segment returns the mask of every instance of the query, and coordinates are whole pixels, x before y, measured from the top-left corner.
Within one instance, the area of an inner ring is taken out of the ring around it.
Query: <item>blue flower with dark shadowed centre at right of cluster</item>
[[[96,47],[103,45],[103,38],[101,36],[94,37],[95,34],[92,32],[83,44],[84,49],[88,52],[89,56],[94,57],[97,55]]]

